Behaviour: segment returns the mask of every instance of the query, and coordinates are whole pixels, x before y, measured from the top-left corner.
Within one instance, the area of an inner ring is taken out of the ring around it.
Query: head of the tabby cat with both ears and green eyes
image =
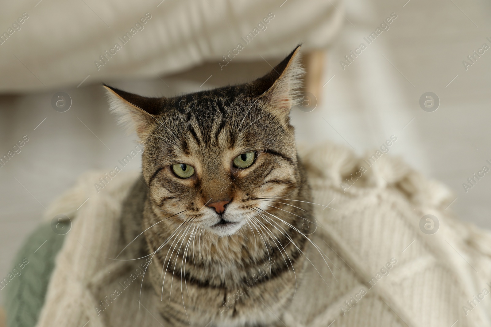
[[[303,70],[300,46],[255,81],[174,98],[106,86],[111,111],[144,145],[152,210],[232,235],[257,210],[300,187],[294,128]],[[263,200],[258,200],[263,199]]]

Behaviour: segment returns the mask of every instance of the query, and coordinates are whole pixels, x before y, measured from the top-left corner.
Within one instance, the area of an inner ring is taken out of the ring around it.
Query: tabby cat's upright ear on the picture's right
[[[300,99],[303,74],[298,46],[269,74],[258,80],[262,82],[263,88],[271,85],[262,97],[266,101],[267,109],[281,120],[286,119],[292,106]]]

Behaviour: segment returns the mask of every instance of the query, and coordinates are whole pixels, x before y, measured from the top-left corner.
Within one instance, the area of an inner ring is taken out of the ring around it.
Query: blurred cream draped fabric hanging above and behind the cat
[[[299,43],[326,48],[344,20],[339,2],[9,1],[0,10],[0,92],[155,77],[203,62],[220,71],[283,57]]]

